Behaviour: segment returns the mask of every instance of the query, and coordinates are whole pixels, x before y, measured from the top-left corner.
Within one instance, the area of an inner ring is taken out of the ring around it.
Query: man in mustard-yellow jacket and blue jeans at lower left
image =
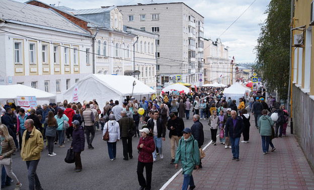
[[[26,161],[28,169],[29,189],[42,189],[36,168],[39,163],[40,153],[44,148],[44,141],[40,131],[34,127],[34,121],[28,119],[24,122],[25,132],[22,137],[21,157]]]

